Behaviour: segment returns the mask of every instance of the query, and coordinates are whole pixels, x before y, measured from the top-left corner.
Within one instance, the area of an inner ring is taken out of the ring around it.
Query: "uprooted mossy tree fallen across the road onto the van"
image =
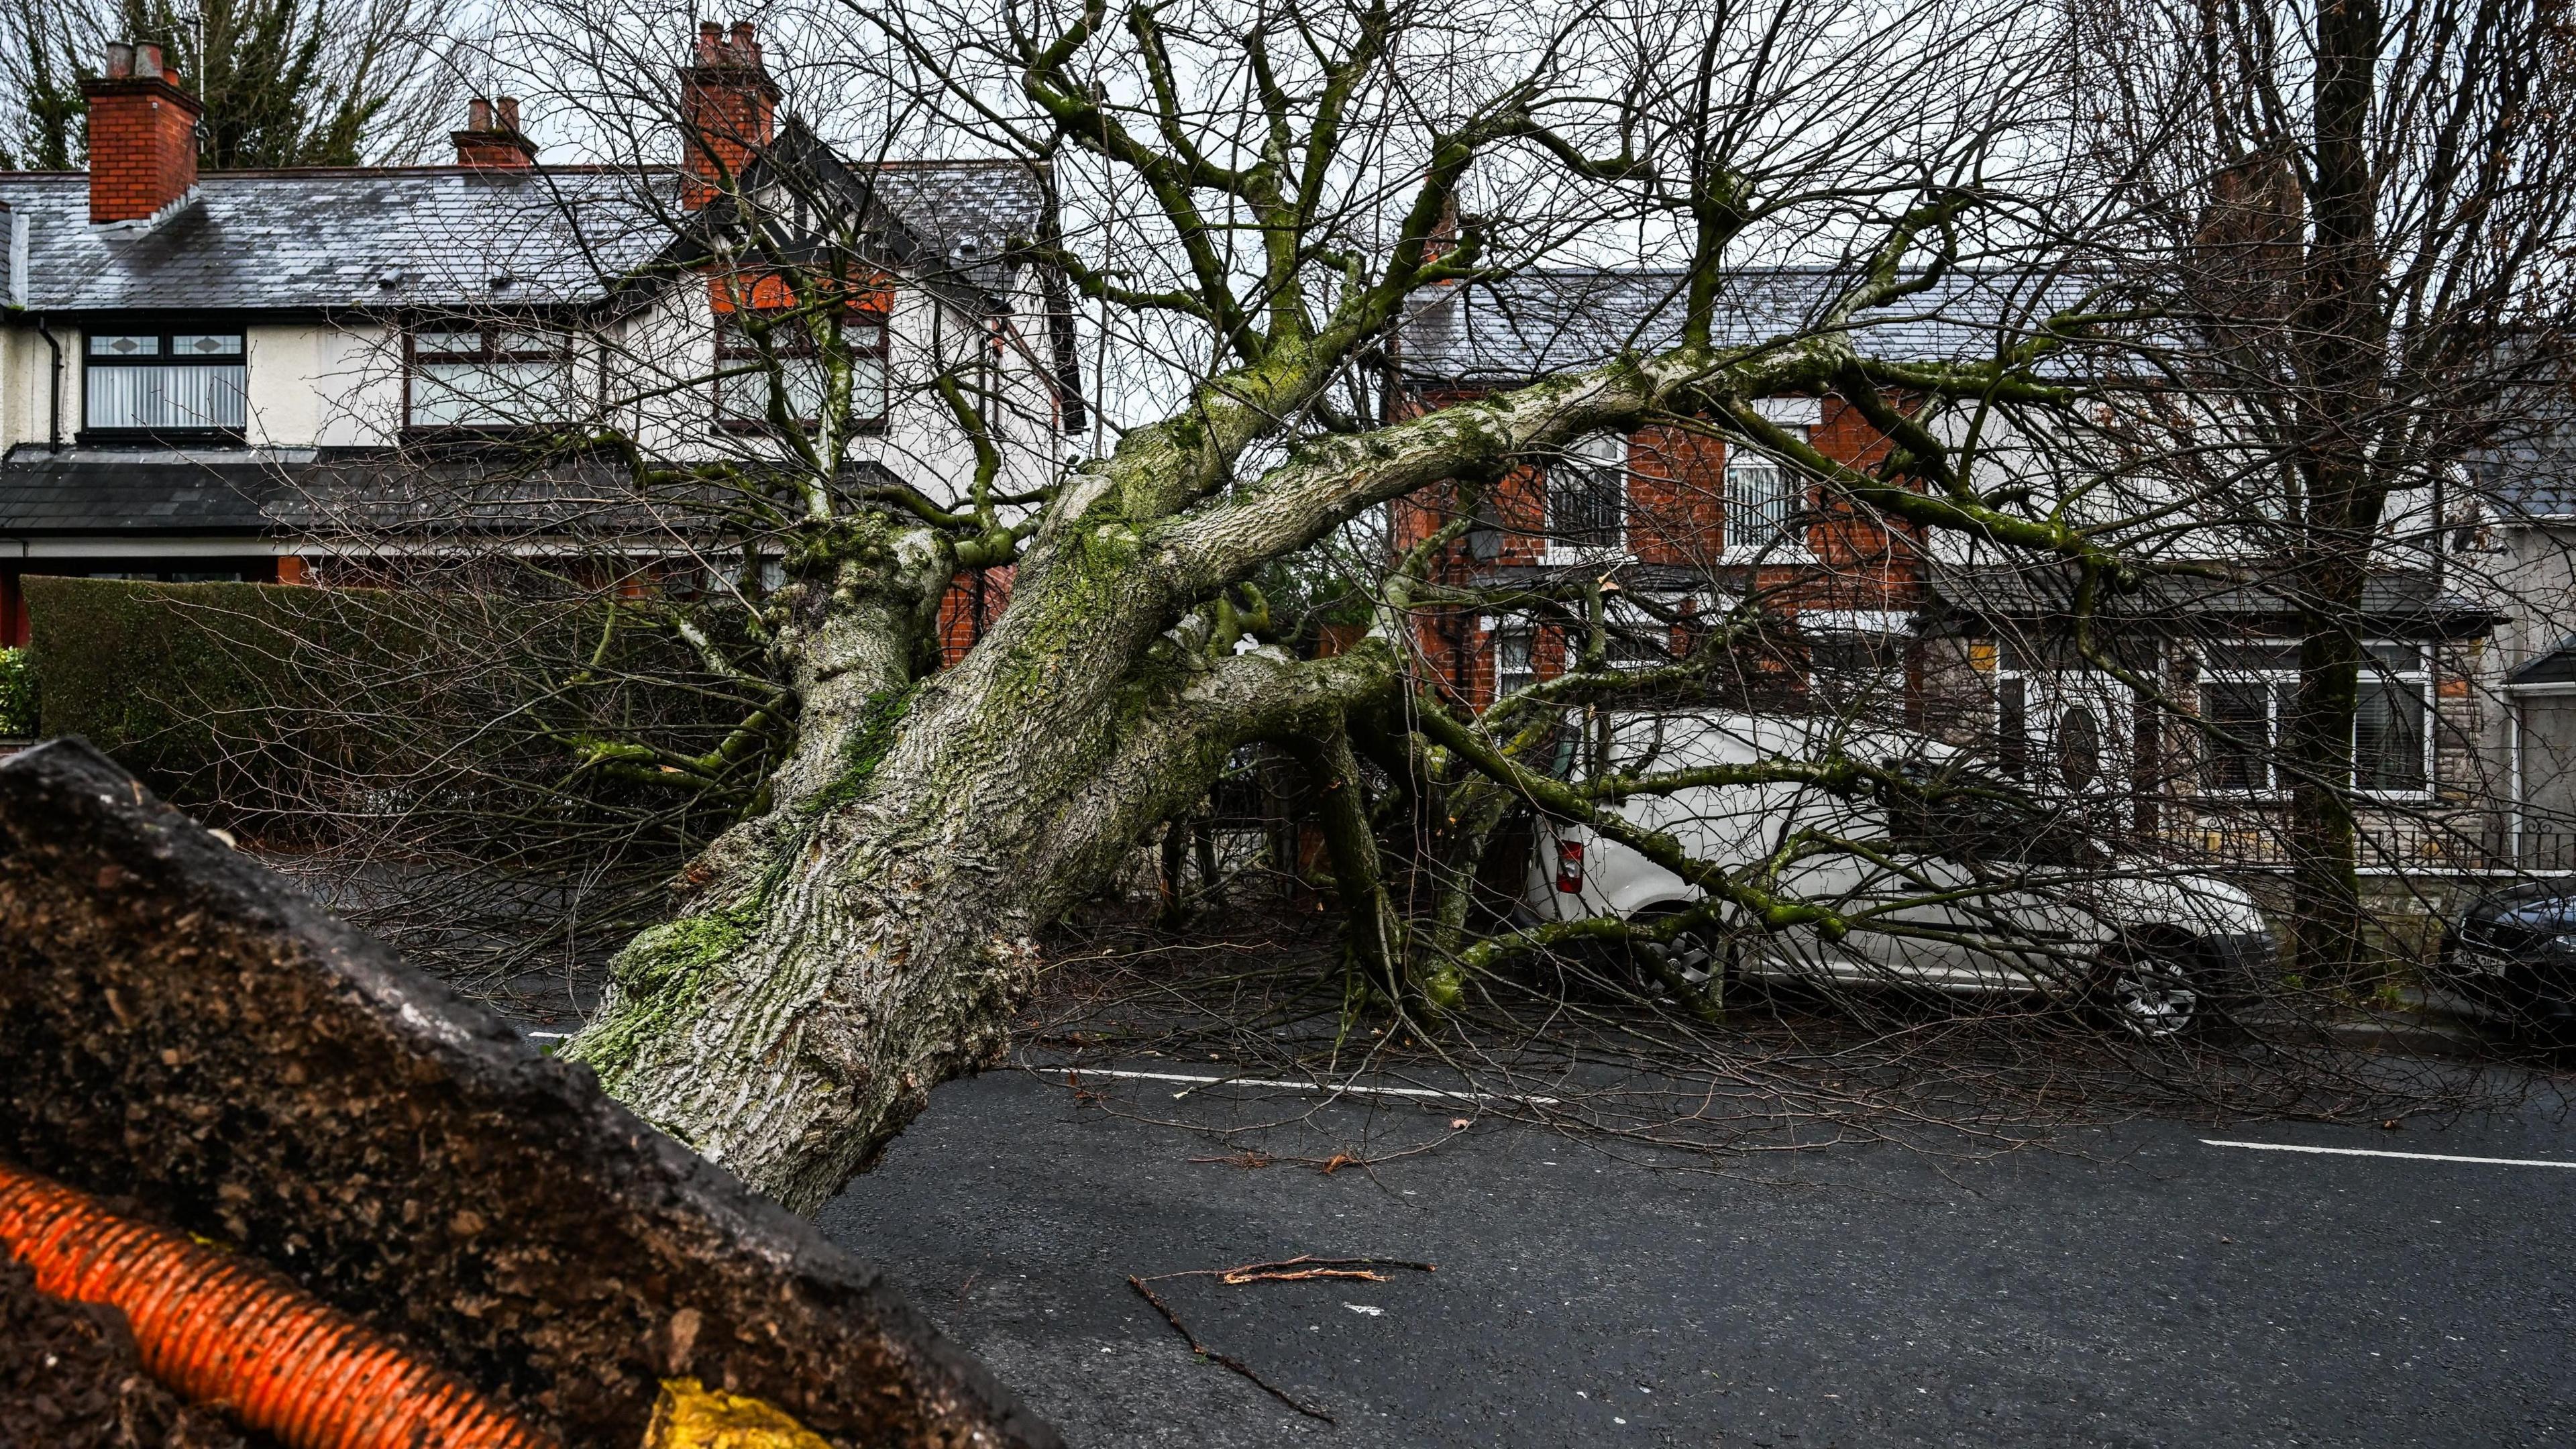
[[[1950,397],[2061,407],[2069,394],[2038,361],[2081,317],[2030,317],[2038,345],[1986,364],[1868,351],[1870,322],[1958,266],[1994,211],[1984,178],[2025,121],[2027,62],[2009,59],[2007,21],[1911,10],[1883,15],[1896,39],[1855,41],[1783,8],[1692,18],[1623,49],[1592,15],[1497,13],[1540,57],[1507,80],[1437,59],[1445,31],[1383,3],[1012,21],[884,23],[922,106],[1110,178],[1090,199],[1092,245],[1048,242],[1043,263],[1206,364],[1141,379],[1170,407],[1018,521],[992,498],[992,449],[961,505],[850,505],[822,482],[837,459],[811,459],[788,583],[768,603],[793,740],[760,807],[680,874],[680,913],[616,959],[608,1003],[569,1047],[621,1101],[791,1207],[824,1201],[930,1085],[994,1055],[1041,923],[1095,892],[1252,740],[1288,745],[1321,776],[1334,890],[1383,1000],[1437,1008],[1455,990],[1383,890],[1350,724],[1406,732],[1404,611],[1422,570],[1383,583],[1358,647],[1296,657],[1262,639],[1255,580],[1388,500],[1497,480],[1602,428],[1685,420],[1899,518],[2125,567],[2063,521],[1986,503],[1958,449],[1906,418]],[[1927,39],[1937,23],[1963,28]],[[1667,72],[1674,54],[1695,57],[1687,75]],[[1937,64],[1973,70],[1937,119],[1855,119],[1852,103],[1883,103]],[[1618,101],[1592,101],[1595,85]],[[1226,98],[1213,111],[1182,101],[1208,88]],[[1450,93],[1430,106],[1432,90]],[[1548,188],[1556,211],[1461,229],[1476,168]],[[1144,232],[1110,222],[1121,193],[1151,199]],[[1677,338],[1476,402],[1370,415],[1378,351],[1417,297],[1533,266],[1566,229],[1623,209],[1687,255]],[[1839,250],[1832,309],[1734,340],[1718,315],[1728,255],[1816,227],[1860,237]],[[1247,235],[1260,245],[1242,248]],[[1167,266],[1136,250],[1146,240]],[[1862,400],[1899,438],[1891,467],[1834,464],[1754,407],[1826,392]],[[1888,402],[1899,394],[1911,402]],[[958,420],[971,428],[974,410]],[[999,562],[1015,565],[1010,606],[963,660],[925,673],[948,580]],[[1582,688],[1615,683],[1595,670],[1564,694]],[[1510,766],[1494,768],[1510,786]],[[1747,882],[1726,882],[1726,897],[1816,918]]]

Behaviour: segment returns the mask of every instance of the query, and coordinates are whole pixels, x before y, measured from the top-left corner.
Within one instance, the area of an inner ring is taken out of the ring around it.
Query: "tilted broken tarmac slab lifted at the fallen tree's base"
[[[804,1220],[80,743],[0,763],[0,1158],[198,1232],[554,1428],[657,1382],[840,1444],[1056,1434]]]

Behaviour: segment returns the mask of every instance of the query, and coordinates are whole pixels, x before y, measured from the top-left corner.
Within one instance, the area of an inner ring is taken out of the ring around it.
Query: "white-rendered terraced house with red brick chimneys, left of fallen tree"
[[[8,642],[31,572],[381,578],[587,529],[685,575],[647,467],[948,498],[979,433],[1025,487],[1082,425],[1069,307],[1023,255],[1043,175],[835,152],[747,23],[701,26],[662,165],[546,165],[497,98],[451,165],[201,175],[160,49],[103,62],[88,170],[0,173]]]

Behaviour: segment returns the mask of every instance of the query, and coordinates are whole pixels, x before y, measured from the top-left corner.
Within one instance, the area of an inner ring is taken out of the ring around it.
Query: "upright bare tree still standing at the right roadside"
[[[2566,18],[2522,0],[2071,8],[2105,266],[2159,317],[2146,454],[2295,614],[2280,771],[2295,964],[2349,980],[2354,714],[2375,570],[2439,572],[2445,490],[2563,387],[2576,289]],[[2391,536],[2409,498],[2429,526]],[[2264,743],[2254,743],[2264,748]],[[2239,743],[2244,748],[2244,743]]]

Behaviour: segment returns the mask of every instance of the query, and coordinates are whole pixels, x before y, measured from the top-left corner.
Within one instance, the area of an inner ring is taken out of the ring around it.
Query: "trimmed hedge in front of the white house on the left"
[[[435,807],[487,815],[487,835],[577,835],[603,810],[652,815],[670,792],[585,776],[572,799],[569,740],[696,755],[750,712],[685,642],[598,596],[85,578],[23,588],[44,735],[80,735],[162,797],[227,820]],[[685,830],[714,807],[693,804]]]

